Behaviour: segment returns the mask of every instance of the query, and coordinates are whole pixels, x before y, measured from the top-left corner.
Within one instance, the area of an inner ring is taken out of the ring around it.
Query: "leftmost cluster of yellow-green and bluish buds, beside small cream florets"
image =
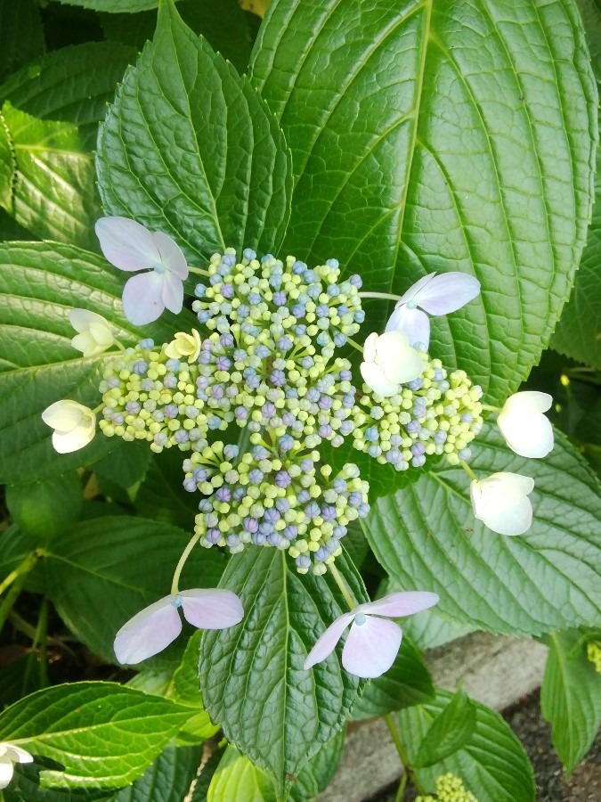
[[[203,448],[208,430],[224,429],[227,420],[199,399],[198,376],[197,364],[169,359],[152,340],[127,348],[104,366],[102,432],[124,440],[148,440],[155,452],[170,446],[182,451]]]

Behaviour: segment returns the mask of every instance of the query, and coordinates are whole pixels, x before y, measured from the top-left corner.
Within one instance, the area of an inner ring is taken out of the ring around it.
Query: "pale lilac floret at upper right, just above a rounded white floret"
[[[427,350],[430,343],[427,315],[456,312],[475,299],[479,292],[480,282],[473,275],[457,271],[425,275],[398,301],[386,324],[386,331],[404,331],[411,345],[422,343]]]

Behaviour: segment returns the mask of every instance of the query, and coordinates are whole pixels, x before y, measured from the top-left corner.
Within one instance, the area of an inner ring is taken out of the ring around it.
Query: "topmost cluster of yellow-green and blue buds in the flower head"
[[[208,274],[209,286],[197,286],[192,308],[199,323],[235,334],[242,348],[258,340],[270,354],[292,351],[294,358],[296,350],[313,344],[329,358],[364,320],[361,279],[338,282],[336,259],[310,269],[294,257],[286,265],[271,254],[258,261],[250,249],[237,262],[235,250],[227,249],[211,258]]]

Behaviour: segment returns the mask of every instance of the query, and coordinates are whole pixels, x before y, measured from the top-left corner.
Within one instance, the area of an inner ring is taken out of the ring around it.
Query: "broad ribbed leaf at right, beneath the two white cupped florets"
[[[491,532],[474,518],[464,471],[431,471],[378,499],[363,520],[394,584],[435,591],[441,615],[490,632],[532,635],[596,620],[601,498],[581,455],[556,431],[548,457],[524,459],[490,423],[471,447],[476,475],[511,471],[535,479],[532,528],[519,537]]]

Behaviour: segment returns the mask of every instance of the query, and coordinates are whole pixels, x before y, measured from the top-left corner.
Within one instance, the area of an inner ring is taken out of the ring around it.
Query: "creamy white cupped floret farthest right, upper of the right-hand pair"
[[[553,398],[527,391],[508,397],[497,421],[509,448],[525,457],[544,457],[553,450],[553,427],[543,414]]]

